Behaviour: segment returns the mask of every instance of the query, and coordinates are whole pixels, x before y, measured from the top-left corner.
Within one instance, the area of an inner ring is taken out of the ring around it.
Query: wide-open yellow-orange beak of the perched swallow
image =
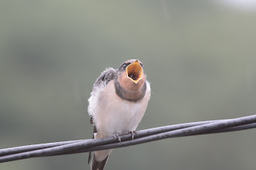
[[[134,61],[126,67],[126,74],[135,84],[142,79],[143,68],[139,64],[138,60]]]

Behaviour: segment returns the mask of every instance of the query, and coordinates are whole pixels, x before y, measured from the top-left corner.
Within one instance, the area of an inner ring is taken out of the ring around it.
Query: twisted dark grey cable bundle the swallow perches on
[[[130,134],[120,136],[122,143],[119,143],[114,137],[107,137],[98,140],[72,140],[50,144],[35,144],[16,148],[6,148],[0,150],[0,163],[38,156],[54,156],[78,152],[91,152],[109,148],[121,148],[170,137],[194,136],[216,132],[232,132],[255,127],[256,115],[252,115],[249,117],[239,117],[229,120],[203,121],[181,125],[170,125],[160,128],[150,128],[139,131],[138,136],[135,136],[134,140],[130,140]]]

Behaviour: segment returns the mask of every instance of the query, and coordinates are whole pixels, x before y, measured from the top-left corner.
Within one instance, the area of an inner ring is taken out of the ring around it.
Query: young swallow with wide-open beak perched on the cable
[[[150,100],[150,82],[138,59],[124,61],[118,69],[107,68],[94,82],[88,99],[90,124],[94,139],[131,133],[142,121]],[[118,137],[118,140],[120,138]],[[121,142],[121,140],[120,140]],[[103,170],[113,149],[89,153],[91,170]]]

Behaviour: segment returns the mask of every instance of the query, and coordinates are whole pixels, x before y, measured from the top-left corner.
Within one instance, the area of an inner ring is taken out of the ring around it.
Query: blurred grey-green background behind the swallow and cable
[[[205,1],[0,2],[0,148],[91,137],[87,98],[106,67],[143,62],[139,129],[256,113],[256,10]],[[256,131],[112,152],[107,169],[255,169]],[[87,153],[0,169],[89,169]]]

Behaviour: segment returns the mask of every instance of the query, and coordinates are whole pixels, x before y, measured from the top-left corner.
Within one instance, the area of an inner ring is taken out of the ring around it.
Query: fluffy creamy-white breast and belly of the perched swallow
[[[150,84],[146,81],[146,94],[141,101],[125,101],[115,93],[114,81],[92,93],[88,111],[94,117],[98,133],[112,136],[134,131],[146,112],[150,100]]]

